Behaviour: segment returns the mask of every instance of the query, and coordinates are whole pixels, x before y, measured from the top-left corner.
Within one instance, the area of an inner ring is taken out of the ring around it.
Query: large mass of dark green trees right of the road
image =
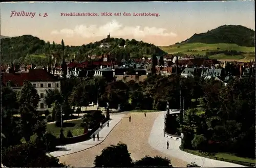
[[[231,80],[226,87],[214,80],[203,84],[197,107],[184,113],[182,148],[255,158],[254,85],[252,77]]]

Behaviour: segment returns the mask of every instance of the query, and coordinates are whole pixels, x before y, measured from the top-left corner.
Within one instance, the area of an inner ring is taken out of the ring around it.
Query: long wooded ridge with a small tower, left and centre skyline
[[[65,39],[63,40],[65,43]],[[53,45],[53,42],[50,43],[50,52],[61,55],[61,42],[55,42],[55,45]],[[102,43],[108,44],[109,47],[100,47]],[[1,39],[2,61],[5,63],[10,63],[11,61],[26,63],[35,58],[44,61],[46,60],[46,46],[47,42],[31,35]],[[129,57],[142,58],[151,57],[152,54],[159,56],[166,54],[166,52],[153,44],[136,41],[135,39],[105,38],[87,45],[65,46],[65,54],[66,58],[69,57],[68,60],[73,59],[75,55],[77,61],[86,61],[89,59],[89,55],[102,55],[106,53],[111,53],[111,55],[114,55],[119,61]]]

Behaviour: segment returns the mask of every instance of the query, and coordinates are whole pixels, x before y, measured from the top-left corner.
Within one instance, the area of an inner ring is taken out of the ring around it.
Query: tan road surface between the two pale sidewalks
[[[132,118],[131,122],[129,122],[130,115]],[[158,155],[169,158],[175,167],[185,167],[187,162],[153,149],[148,144],[152,126],[158,115],[161,115],[161,113],[147,113],[146,118],[144,113],[129,114],[122,119],[101,144],[85,151],[58,158],[60,162],[65,162],[71,166],[92,167],[94,166],[95,156],[100,155],[105,147],[122,142],[127,145],[133,160],[141,159],[145,155],[152,157]]]

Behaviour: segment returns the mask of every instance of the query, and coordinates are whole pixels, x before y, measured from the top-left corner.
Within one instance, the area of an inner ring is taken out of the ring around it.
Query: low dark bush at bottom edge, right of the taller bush
[[[168,166],[172,167],[170,160],[168,158],[162,158],[159,156],[150,157],[145,156],[141,160],[137,160],[134,164],[136,167],[155,167],[155,166]]]

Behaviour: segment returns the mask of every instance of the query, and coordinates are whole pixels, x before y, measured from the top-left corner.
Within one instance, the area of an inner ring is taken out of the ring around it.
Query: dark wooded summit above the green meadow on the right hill
[[[254,47],[255,31],[242,25],[222,25],[206,33],[194,34],[181,43],[229,43]]]

